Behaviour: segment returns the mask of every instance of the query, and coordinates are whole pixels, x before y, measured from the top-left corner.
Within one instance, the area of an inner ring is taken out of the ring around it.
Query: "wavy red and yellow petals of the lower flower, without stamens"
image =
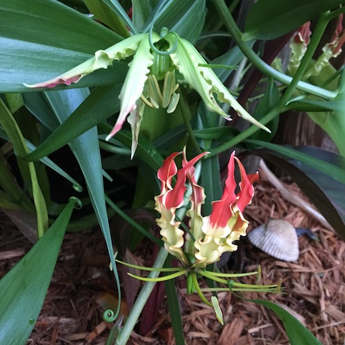
[[[248,221],[244,219],[244,208],[250,204],[254,195],[253,183],[258,179],[258,173],[246,175],[242,163],[235,157],[235,152],[230,156],[228,163],[228,177],[225,181],[224,193],[219,201],[213,201],[213,209],[209,216],[201,216],[201,205],[204,204],[204,188],[195,181],[194,165],[207,152],[188,161],[186,152],[183,151],[182,168],[177,169],[175,157],[181,152],[172,153],[158,170],[161,180],[161,194],[155,197],[156,210],[161,217],[157,224],[161,228],[161,236],[166,250],[181,263],[193,269],[204,268],[208,264],[217,262],[224,252],[237,250],[233,244],[240,236],[246,235]],[[235,194],[235,160],[241,172],[242,181],[239,183],[239,193]],[[176,177],[175,186],[172,179]],[[186,180],[190,182],[192,193],[189,196],[190,233],[184,234],[181,222],[176,219],[176,210],[184,205],[186,194]]]

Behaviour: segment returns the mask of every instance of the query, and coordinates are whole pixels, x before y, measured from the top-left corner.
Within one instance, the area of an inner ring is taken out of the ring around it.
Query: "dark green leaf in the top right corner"
[[[344,0],[259,0],[246,17],[244,39],[275,39],[306,21],[331,10]]]

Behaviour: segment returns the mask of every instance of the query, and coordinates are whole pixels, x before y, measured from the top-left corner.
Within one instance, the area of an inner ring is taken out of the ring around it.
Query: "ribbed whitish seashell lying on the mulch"
[[[265,253],[284,261],[299,257],[298,237],[295,228],[282,219],[270,219],[248,233],[248,239]]]

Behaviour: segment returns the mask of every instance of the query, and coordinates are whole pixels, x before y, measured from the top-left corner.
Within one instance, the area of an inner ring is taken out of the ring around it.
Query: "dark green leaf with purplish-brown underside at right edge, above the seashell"
[[[268,143],[261,144],[268,147]],[[345,239],[345,184],[332,177],[333,172],[344,171],[344,158],[311,146],[282,148],[271,145],[273,144],[270,144],[269,148],[254,150],[253,154],[287,172],[337,231],[339,237]]]

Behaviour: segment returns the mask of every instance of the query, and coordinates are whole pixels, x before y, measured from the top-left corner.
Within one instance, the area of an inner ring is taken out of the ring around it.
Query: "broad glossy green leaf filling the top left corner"
[[[111,30],[53,0],[3,0],[0,23],[1,92],[28,91],[23,83],[56,77],[121,41]],[[117,69],[123,66],[115,63],[111,72],[88,76],[78,87],[111,83],[109,73],[116,82]]]

